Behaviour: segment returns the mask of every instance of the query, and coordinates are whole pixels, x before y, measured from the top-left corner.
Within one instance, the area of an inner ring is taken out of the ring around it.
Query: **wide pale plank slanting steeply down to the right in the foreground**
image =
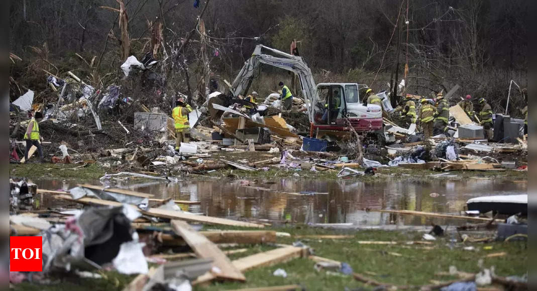
[[[246,281],[241,271],[214,243],[207,240],[207,237],[193,230],[184,221],[172,220],[170,223],[173,231],[183,237],[198,257],[213,259],[213,266],[220,269],[220,272],[216,273],[216,278]]]

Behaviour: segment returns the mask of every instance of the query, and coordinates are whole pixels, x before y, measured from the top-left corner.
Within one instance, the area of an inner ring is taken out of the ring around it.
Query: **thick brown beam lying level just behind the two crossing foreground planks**
[[[212,230],[199,232],[205,235],[213,243],[238,243],[258,244],[276,242],[276,232],[273,230]],[[163,234],[162,241],[165,245],[183,245],[181,237]]]

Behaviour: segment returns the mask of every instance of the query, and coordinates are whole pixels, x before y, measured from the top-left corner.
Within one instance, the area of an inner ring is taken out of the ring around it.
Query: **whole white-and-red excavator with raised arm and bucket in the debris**
[[[272,54],[264,54],[263,50]],[[378,132],[382,130],[382,108],[378,105],[365,104],[360,101],[359,85],[356,83],[321,83],[315,84],[313,74],[300,56],[258,44],[251,57],[231,84],[229,92],[209,99],[209,112],[214,121],[220,119],[222,111],[213,109],[212,103],[229,106],[233,103],[252,105],[238,98],[248,92],[260,66],[269,65],[291,71],[300,81],[300,89],[306,103],[310,121],[310,137],[322,132],[350,131],[350,126],[358,133]],[[363,86],[363,85],[362,85]],[[257,108],[257,107],[256,107]]]

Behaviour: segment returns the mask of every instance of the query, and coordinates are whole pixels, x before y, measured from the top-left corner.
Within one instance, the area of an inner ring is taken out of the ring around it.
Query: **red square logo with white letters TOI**
[[[43,270],[41,236],[9,237],[9,271],[41,272]]]

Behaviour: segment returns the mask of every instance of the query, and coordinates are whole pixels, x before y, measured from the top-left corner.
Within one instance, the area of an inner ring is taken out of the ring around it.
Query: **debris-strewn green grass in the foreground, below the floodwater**
[[[209,227],[214,228],[214,227]],[[219,227],[219,229],[224,229]],[[233,229],[233,228],[225,228]],[[421,240],[422,233],[394,232],[384,230],[327,230],[307,226],[270,227],[268,230],[287,232],[292,237],[278,237],[278,243],[291,244],[302,241],[314,249],[315,255],[348,263],[355,273],[384,283],[396,285],[425,285],[430,280],[447,281],[453,277],[439,277],[437,272],[447,272],[449,266],[459,271],[478,272],[478,261],[483,260],[484,267],[495,266],[500,276],[523,275],[527,272],[526,242],[493,242],[493,243],[454,243],[450,248],[451,236],[440,237],[434,241],[432,249],[424,249],[423,245],[408,245],[404,242]],[[333,240],[324,238],[296,238],[298,235],[352,235],[352,238]],[[475,234],[469,233],[470,236]],[[358,241],[397,241],[395,245],[359,244]],[[475,251],[463,250],[464,246],[474,246]],[[483,247],[492,247],[485,250]],[[231,260],[249,256],[253,253],[272,249],[269,245],[250,245],[248,252],[230,255]],[[238,248],[244,248],[239,246]],[[506,256],[487,258],[489,253],[506,252]],[[396,253],[397,255],[394,255]],[[314,262],[307,258],[293,259],[286,263],[273,266],[254,268],[245,272],[246,282],[213,282],[206,286],[196,286],[194,290],[224,290],[251,287],[266,287],[289,284],[300,284],[307,290],[343,290],[359,288],[364,285],[351,277],[331,274],[324,271],[316,272]],[[272,273],[277,268],[287,272],[287,278],[275,277]],[[39,286],[45,290],[120,290],[134,276],[125,276],[115,272],[102,272],[103,279],[62,279],[61,284]],[[33,290],[36,285],[23,283],[15,290]],[[372,289],[371,287],[368,287]]]

